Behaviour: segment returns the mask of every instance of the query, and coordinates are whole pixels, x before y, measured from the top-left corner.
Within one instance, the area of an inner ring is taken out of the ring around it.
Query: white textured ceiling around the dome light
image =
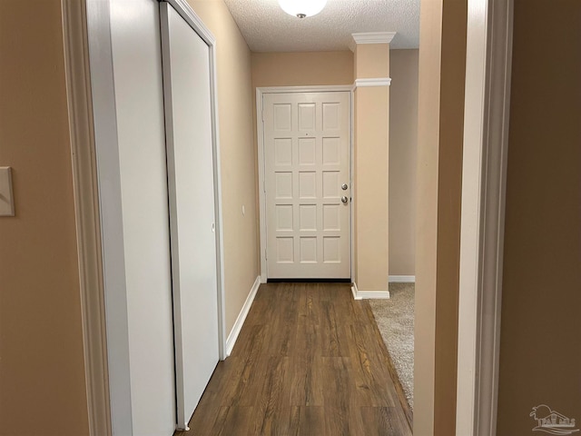
[[[224,3],[253,52],[347,50],[359,32],[397,32],[391,48],[419,47],[419,0],[328,0],[304,19],[284,13],[277,0]]]

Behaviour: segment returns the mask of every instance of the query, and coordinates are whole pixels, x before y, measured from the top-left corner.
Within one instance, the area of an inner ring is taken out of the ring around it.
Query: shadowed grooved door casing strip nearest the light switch
[[[86,10],[84,2],[77,0],[63,0],[62,10],[89,434],[110,436],[113,431],[105,336],[99,192],[96,161],[92,153],[93,101]]]

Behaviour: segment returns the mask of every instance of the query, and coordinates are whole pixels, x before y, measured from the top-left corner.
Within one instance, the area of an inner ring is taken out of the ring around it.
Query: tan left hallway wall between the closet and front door
[[[217,42],[226,333],[259,275],[251,52],[222,0],[188,0]],[[244,206],[245,214],[242,214]]]

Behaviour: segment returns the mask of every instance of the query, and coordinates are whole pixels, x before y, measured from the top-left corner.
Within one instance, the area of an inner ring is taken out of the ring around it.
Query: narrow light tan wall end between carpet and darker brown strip
[[[422,0],[419,15],[413,425],[418,436],[434,434],[441,2]]]

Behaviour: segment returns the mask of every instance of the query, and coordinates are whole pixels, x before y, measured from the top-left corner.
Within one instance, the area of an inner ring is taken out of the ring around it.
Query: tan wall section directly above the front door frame
[[[252,87],[352,84],[353,53],[252,53]]]

